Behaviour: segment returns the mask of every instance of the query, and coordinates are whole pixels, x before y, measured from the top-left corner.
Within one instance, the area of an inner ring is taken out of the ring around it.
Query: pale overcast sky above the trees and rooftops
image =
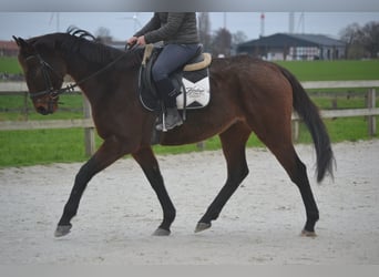
[[[75,25],[95,34],[106,28],[115,40],[126,40],[146,23],[152,12],[0,12],[0,40],[12,35],[31,38]],[[289,31],[289,12],[265,12],[264,34]],[[226,25],[235,33],[243,31],[247,39],[257,39],[262,30],[262,12],[209,12],[211,29]],[[322,33],[338,38],[351,23],[379,21],[379,12],[295,12],[297,33]]]

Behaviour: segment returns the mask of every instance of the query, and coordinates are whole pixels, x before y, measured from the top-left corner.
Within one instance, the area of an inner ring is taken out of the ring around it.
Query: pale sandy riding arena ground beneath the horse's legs
[[[194,228],[224,184],[221,152],[160,156],[177,217],[170,237],[151,236],[161,207],[137,164],[96,175],[72,233],[53,232],[80,164],[0,170],[0,264],[259,265],[379,264],[379,141],[335,144],[335,182],[318,185],[311,146],[297,145],[320,209],[318,237],[300,237],[300,195],[264,148],[209,230]]]

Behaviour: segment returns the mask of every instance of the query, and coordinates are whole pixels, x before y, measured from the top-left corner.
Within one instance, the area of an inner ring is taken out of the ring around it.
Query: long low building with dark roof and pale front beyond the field
[[[276,33],[240,43],[236,52],[266,60],[338,60],[346,43],[324,34]]]

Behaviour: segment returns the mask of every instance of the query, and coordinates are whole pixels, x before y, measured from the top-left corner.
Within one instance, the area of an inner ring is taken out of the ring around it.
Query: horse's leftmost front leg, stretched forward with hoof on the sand
[[[69,201],[66,202],[63,215],[58,223],[55,237],[61,237],[70,233],[71,219],[76,215],[80,199],[90,179],[106,166],[125,154],[122,142],[112,137],[105,140],[98,152],[80,168],[76,174]]]

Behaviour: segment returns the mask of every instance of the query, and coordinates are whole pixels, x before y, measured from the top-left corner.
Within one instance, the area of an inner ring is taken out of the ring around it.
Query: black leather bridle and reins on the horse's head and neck
[[[120,61],[122,58],[124,58],[127,54],[127,51],[122,53],[121,55],[119,55],[115,60],[113,60],[112,62],[110,62],[109,64],[106,64],[104,68],[98,70],[96,72],[92,73],[91,75],[73,83],[73,84],[69,84],[65,88],[61,88],[58,90],[54,90],[54,88],[52,86],[52,82],[51,82],[51,78],[50,74],[48,72],[48,69],[50,71],[52,71],[57,76],[59,76],[61,80],[63,80],[62,76],[60,76],[60,74],[47,62],[42,59],[42,57],[40,54],[35,54],[35,55],[30,55],[25,60],[30,60],[30,59],[38,59],[41,66],[42,66],[42,74],[44,78],[44,83],[47,85],[47,89],[44,91],[40,91],[40,92],[35,92],[35,93],[29,93],[31,99],[35,99],[42,95],[49,95],[51,100],[57,99],[60,94],[64,93],[64,92],[69,92],[69,91],[73,91],[76,86],[79,86],[80,84],[84,83],[85,81],[100,75],[101,73],[105,72],[106,70],[109,70],[112,65],[114,65],[117,61]]]

